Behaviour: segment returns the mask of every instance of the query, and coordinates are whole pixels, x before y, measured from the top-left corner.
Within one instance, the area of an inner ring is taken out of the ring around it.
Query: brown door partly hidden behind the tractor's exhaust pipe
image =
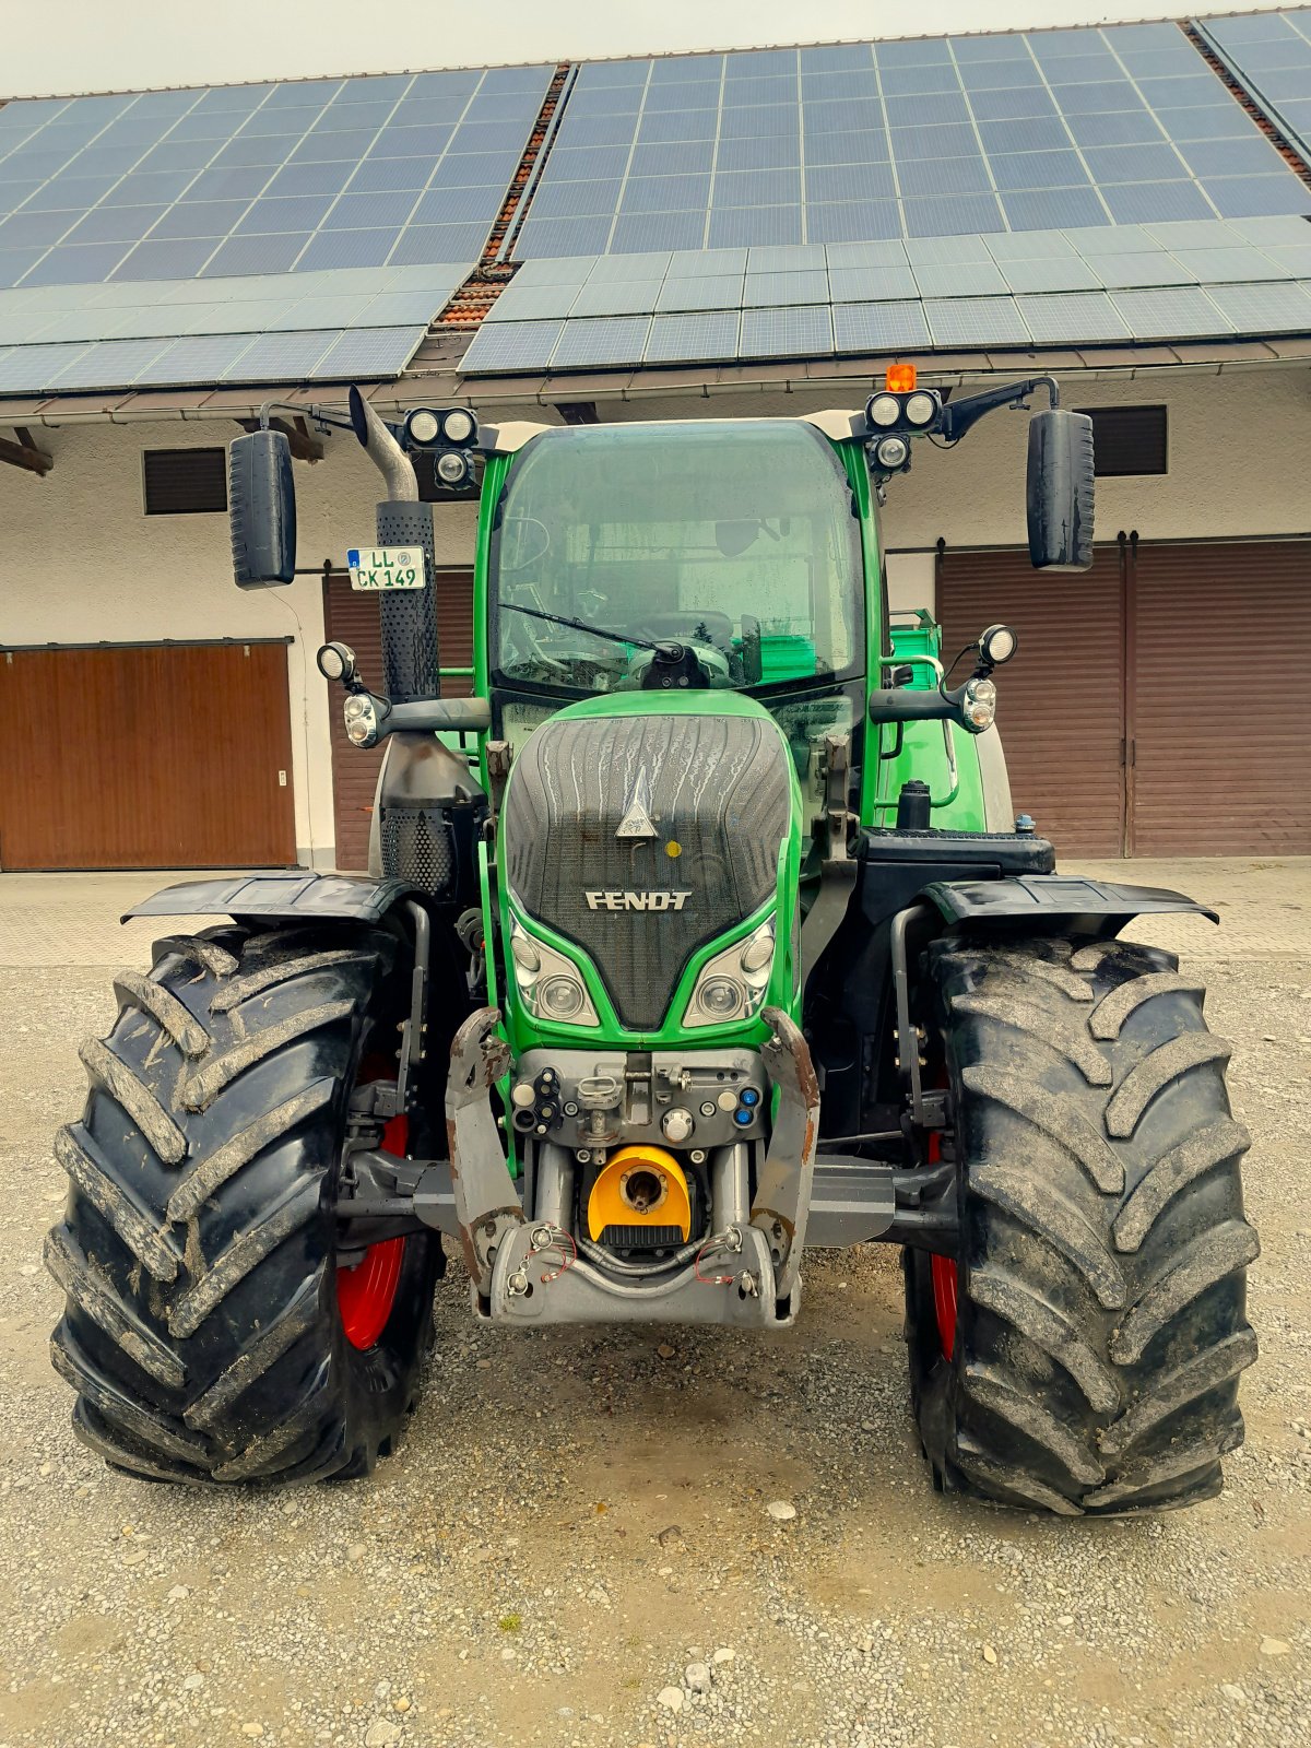
[[[467,570],[444,570],[435,577],[437,636],[444,668],[474,666],[474,577]],[[371,687],[383,685],[383,643],[378,596],[351,589],[348,577],[332,577],[323,596],[323,622],[329,640],[350,643],[360,673]],[[472,683],[463,678],[442,680],[447,697],[467,697]],[[383,762],[381,746],[351,746],[341,722],[341,692],[329,692],[332,724],[332,802],[337,820],[337,867],[369,865],[369,823],[374,811],[374,785]]]

